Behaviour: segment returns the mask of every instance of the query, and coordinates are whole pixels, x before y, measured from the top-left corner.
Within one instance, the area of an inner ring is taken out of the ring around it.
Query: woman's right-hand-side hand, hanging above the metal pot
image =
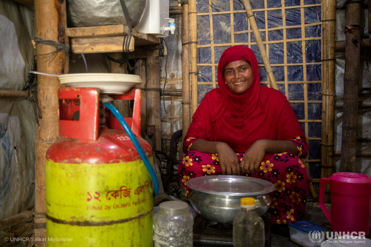
[[[243,155],[240,163],[241,171],[244,173],[256,173],[259,171],[266,152],[265,140],[257,140]]]

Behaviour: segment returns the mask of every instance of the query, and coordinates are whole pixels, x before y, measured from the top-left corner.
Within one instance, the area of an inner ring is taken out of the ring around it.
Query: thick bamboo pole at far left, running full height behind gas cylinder
[[[35,0],[36,37],[69,45],[67,36],[66,1]],[[51,74],[68,74],[69,57],[55,47],[36,44],[37,70]],[[57,77],[37,75],[37,95],[42,119],[36,126],[35,136],[35,213],[46,212],[45,198],[45,161],[49,146],[59,138]],[[46,217],[35,218],[35,223],[46,223]],[[46,237],[46,227],[35,228],[35,237]],[[46,246],[45,241],[35,241],[36,247]]]

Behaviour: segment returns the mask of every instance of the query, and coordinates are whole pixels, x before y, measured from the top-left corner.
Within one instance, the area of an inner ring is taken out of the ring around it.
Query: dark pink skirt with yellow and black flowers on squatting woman
[[[237,154],[239,161],[243,154]],[[178,165],[179,178],[186,190],[192,191],[185,182],[200,176],[221,175],[217,154],[190,151]],[[272,198],[270,213],[272,224],[288,224],[302,220],[308,194],[308,173],[303,162],[293,153],[266,154],[259,172],[242,173],[242,176],[261,178],[274,184],[275,190],[269,193]]]

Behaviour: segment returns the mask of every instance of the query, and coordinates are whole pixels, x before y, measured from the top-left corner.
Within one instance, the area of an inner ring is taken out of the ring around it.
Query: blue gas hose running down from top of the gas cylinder
[[[130,140],[133,142],[135,148],[137,148],[137,151],[138,151],[140,157],[142,158],[145,167],[147,167],[147,170],[151,175],[151,178],[152,178],[152,181],[153,181],[153,184],[154,184],[154,187],[155,187],[154,188],[154,196],[156,196],[157,193],[158,193],[157,177],[156,177],[155,171],[153,170],[153,168],[151,166],[150,161],[148,160],[147,156],[145,155],[145,153],[143,151],[143,148],[140,146],[140,144],[137,140],[137,137],[135,137],[135,135],[133,134],[133,132],[129,128],[128,124],[126,123],[124,118],[121,116],[121,114],[118,112],[118,110],[116,109],[116,107],[113,104],[111,104],[109,102],[106,102],[106,103],[104,103],[104,106],[107,107],[110,111],[112,111],[112,113],[115,115],[117,120],[120,122],[121,126],[124,128],[124,130],[126,131],[128,136],[130,137]]]

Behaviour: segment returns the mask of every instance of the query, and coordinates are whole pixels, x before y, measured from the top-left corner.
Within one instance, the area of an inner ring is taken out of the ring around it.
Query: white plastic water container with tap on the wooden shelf
[[[164,26],[169,26],[169,0],[148,0],[141,21],[135,30],[151,34],[155,37],[167,37],[169,31],[164,31]]]

